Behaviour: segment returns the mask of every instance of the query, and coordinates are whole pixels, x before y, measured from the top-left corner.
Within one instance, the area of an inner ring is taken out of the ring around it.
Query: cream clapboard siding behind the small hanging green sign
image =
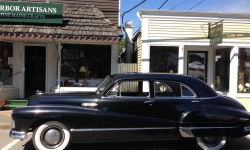
[[[150,19],[148,36],[151,40],[208,40],[208,23],[199,20]],[[250,23],[223,22],[224,42],[250,40]]]

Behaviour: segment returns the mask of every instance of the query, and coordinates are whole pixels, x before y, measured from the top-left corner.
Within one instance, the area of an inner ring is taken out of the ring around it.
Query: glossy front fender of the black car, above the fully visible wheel
[[[13,110],[12,119],[16,130],[28,132],[46,121],[60,121],[69,130],[92,128],[97,109],[72,106],[27,106]],[[82,119],[84,118],[84,119]]]

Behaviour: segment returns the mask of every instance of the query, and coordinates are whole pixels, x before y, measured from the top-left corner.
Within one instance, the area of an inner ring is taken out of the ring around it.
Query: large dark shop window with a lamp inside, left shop
[[[99,80],[110,75],[110,45],[62,46],[61,86],[97,86]]]

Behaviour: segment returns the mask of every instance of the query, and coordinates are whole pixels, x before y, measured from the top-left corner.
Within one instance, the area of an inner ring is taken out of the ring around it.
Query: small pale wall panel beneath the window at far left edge
[[[19,98],[18,88],[2,88],[0,91],[0,99],[15,99]]]

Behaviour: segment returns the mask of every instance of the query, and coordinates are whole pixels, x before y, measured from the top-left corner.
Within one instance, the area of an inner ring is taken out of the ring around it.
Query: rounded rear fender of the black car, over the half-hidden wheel
[[[204,106],[204,115],[201,112],[190,110],[183,113],[180,120],[180,132],[183,137],[197,136],[230,136],[241,137],[248,133],[244,127],[250,126],[250,115],[244,110],[227,107]],[[196,117],[199,116],[199,122]]]

